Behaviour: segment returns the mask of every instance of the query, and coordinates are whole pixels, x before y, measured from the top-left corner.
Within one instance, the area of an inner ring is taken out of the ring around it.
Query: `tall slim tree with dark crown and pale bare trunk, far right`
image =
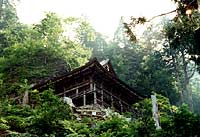
[[[182,102],[189,104],[190,109],[193,110],[192,92],[189,87],[189,81],[196,68],[195,66],[190,68],[192,58],[189,54],[196,44],[194,28],[196,28],[197,22],[190,23],[187,16],[179,14],[176,18],[170,21],[169,25],[165,28],[167,39],[164,46],[166,54],[172,59],[174,73],[177,82],[180,84],[179,91]]]

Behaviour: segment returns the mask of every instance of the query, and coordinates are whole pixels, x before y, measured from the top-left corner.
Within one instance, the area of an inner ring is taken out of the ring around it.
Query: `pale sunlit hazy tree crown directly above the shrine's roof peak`
[[[96,57],[99,60],[105,59],[104,52],[108,46],[107,38],[96,32],[86,18],[69,17],[65,19],[65,23],[65,28],[73,31],[73,39],[81,43],[82,46],[92,49],[91,57]]]

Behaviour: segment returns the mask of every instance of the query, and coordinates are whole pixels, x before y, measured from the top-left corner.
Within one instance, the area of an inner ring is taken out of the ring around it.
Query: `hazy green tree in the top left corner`
[[[1,0],[0,1],[0,56],[2,56],[3,49],[11,46],[16,39],[22,39],[21,33],[17,31],[22,30],[23,26],[18,22],[14,1]]]

